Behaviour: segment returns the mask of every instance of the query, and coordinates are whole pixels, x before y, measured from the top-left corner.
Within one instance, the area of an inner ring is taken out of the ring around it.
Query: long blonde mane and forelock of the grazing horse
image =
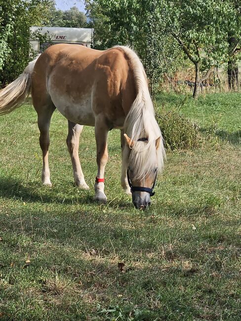
[[[155,119],[155,111],[148,89],[147,76],[137,54],[128,47],[118,46],[128,56],[134,72],[137,96],[124,122],[124,132],[134,142],[131,153],[125,149],[125,157],[134,169],[136,178],[148,176],[155,168],[163,168],[165,150],[160,127]],[[156,149],[156,140],[161,137],[161,143]],[[138,141],[148,138],[147,142]]]

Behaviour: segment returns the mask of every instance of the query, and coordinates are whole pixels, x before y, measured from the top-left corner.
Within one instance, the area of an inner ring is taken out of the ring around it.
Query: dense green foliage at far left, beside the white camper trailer
[[[0,86],[14,80],[29,62],[30,30],[48,21],[52,0],[0,0]]]

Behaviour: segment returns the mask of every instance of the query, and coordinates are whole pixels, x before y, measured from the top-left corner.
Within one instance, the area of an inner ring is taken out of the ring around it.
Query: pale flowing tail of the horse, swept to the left
[[[0,90],[0,115],[12,112],[25,101],[31,89],[31,74],[39,56],[29,63],[16,80]]]

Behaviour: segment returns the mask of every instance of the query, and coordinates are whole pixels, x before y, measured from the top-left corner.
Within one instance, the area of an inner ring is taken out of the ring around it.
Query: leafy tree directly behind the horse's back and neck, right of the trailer
[[[175,50],[165,34],[167,6],[158,0],[86,0],[86,9],[95,29],[96,48],[116,44],[131,46],[141,58],[150,80],[151,95],[157,93],[160,77]],[[168,54],[166,52],[168,51]],[[163,59],[164,54],[167,59]]]

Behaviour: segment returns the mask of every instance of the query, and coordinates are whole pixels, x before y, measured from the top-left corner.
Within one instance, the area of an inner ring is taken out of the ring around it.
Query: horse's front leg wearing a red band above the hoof
[[[105,118],[97,116],[95,119],[95,140],[96,140],[96,162],[98,166],[98,172],[95,179],[94,190],[95,197],[94,201],[102,203],[106,202],[106,195],[104,193],[104,174],[105,166],[108,161],[108,147],[107,137],[109,126],[107,125]]]

